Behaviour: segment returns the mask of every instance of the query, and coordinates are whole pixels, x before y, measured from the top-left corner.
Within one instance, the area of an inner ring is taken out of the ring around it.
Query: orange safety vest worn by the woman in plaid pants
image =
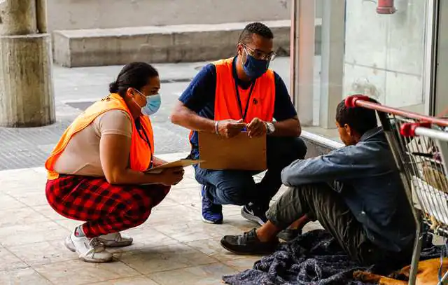
[[[95,102],[87,108],[84,113],[80,114],[78,118],[76,118],[73,123],[65,130],[64,134],[62,134],[61,139],[53,149],[50,157],[45,162],[45,168],[48,171],[48,179],[53,180],[59,177],[59,174],[55,172],[55,162],[57,158],[62,154],[67,144],[69,144],[70,139],[76,133],[84,130],[85,127],[90,125],[95,118],[97,118],[102,113],[118,109],[123,110],[130,115],[132,121],[132,137],[131,137],[131,149],[130,149],[130,167],[135,171],[145,171],[150,167],[151,160],[153,158],[153,150],[154,150],[154,134],[153,127],[151,126],[151,121],[147,116],[140,116],[140,124],[146,136],[148,137],[149,146],[145,136],[139,134],[137,127],[134,123],[134,118],[132,118],[129,109],[125,103],[125,100],[120,97],[118,94],[111,94],[102,100]]]

